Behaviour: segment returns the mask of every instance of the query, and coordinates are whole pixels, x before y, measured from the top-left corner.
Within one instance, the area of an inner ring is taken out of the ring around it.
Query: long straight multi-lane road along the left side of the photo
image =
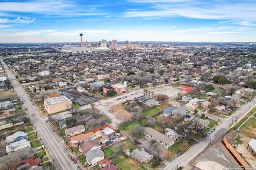
[[[65,145],[63,145],[58,135],[54,133],[48,123],[43,123],[45,120],[41,113],[38,111],[38,108],[36,108],[30,101],[29,96],[26,94],[25,90],[21,87],[21,85],[17,82],[17,80],[12,75],[11,71],[3,62],[3,60],[1,60],[1,63],[4,66],[5,72],[12,83],[13,89],[15,90],[19,98],[24,102],[24,106],[28,108],[28,114],[31,119],[31,123],[35,125],[36,131],[38,133],[38,138],[42,140],[47,154],[49,154],[49,156],[51,157],[52,164],[57,169],[78,169],[78,165],[74,164],[72,160],[68,157],[68,155],[70,154],[67,151]]]

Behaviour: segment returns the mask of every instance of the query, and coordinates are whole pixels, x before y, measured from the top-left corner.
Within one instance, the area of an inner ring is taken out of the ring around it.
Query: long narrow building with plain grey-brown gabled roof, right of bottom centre
[[[169,148],[174,144],[174,139],[167,137],[166,135],[154,130],[153,128],[144,128],[145,137],[149,140],[156,140],[165,148]]]

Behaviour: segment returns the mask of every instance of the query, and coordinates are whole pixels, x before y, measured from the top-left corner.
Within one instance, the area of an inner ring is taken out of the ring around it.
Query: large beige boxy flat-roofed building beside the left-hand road
[[[49,114],[65,111],[71,106],[72,101],[65,96],[44,100],[44,108]]]

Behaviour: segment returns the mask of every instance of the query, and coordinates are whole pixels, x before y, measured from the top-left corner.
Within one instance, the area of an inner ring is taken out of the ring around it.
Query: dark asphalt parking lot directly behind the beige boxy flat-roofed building
[[[90,96],[88,94],[85,94],[84,92],[78,92],[76,88],[61,89],[59,90],[59,93],[66,96],[67,98],[72,100],[73,103],[78,104],[79,106],[88,105],[90,103],[98,101],[98,99],[101,99],[98,98],[98,96]]]

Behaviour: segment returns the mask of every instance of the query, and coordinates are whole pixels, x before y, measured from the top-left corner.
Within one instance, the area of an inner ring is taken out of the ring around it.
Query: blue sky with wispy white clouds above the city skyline
[[[256,41],[256,0],[0,0],[0,43]]]

